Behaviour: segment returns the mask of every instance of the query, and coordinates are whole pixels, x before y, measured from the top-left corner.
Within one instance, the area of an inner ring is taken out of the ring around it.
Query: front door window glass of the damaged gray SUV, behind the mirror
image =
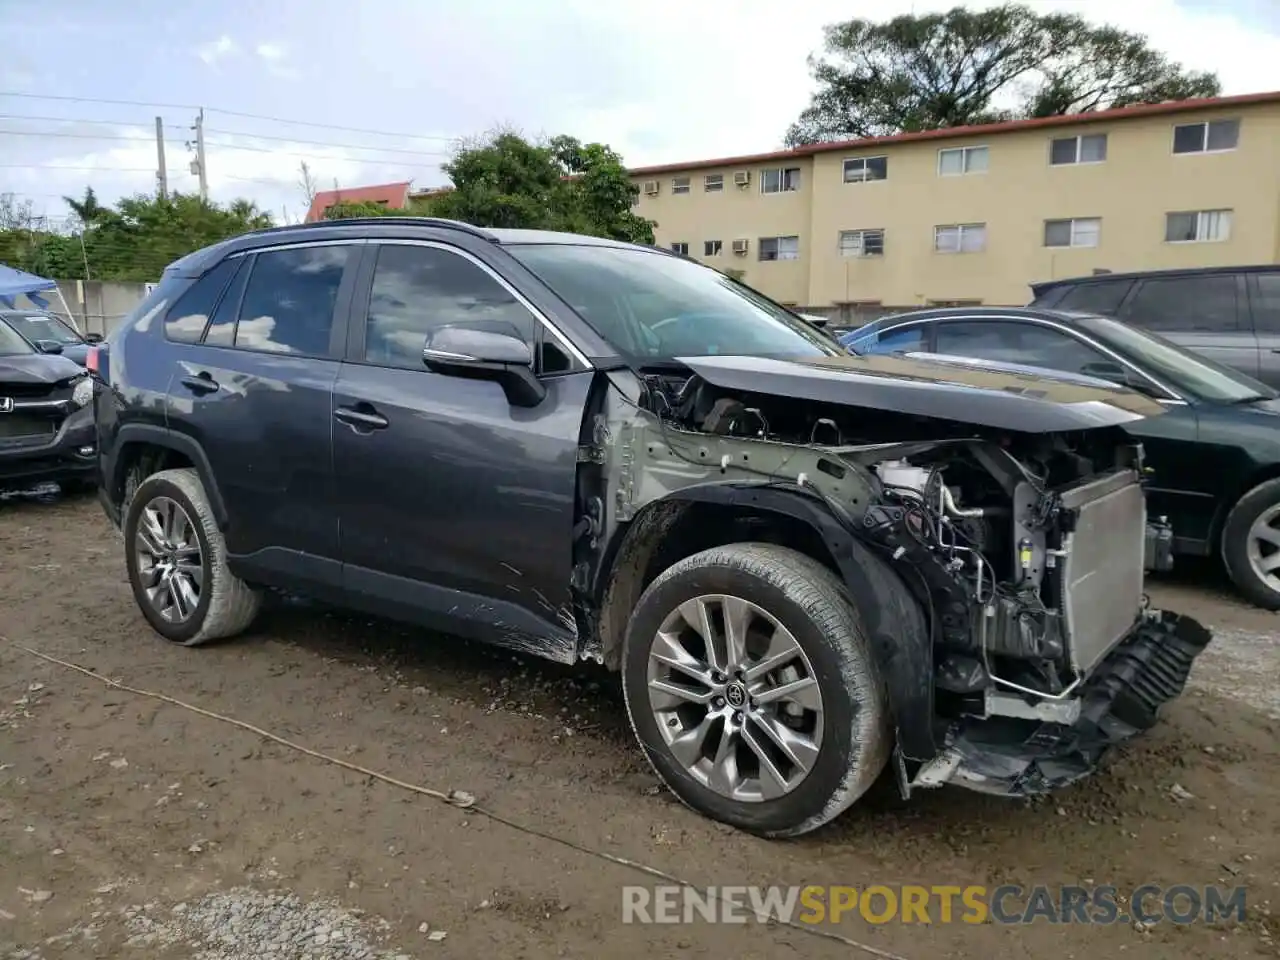
[[[534,343],[534,315],[471,260],[439,247],[383,246],[369,298],[365,360],[422,370],[426,335],[454,324],[512,332]]]

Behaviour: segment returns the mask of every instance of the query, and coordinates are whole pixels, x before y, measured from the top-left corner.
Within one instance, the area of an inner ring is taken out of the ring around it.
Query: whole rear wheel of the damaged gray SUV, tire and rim
[[[227,566],[227,545],[195,470],[161,470],[137,488],[124,516],[133,598],[166,640],[198,646],[246,630],[260,594]]]

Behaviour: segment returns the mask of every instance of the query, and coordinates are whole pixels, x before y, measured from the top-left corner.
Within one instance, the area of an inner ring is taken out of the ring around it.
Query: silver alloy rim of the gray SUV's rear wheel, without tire
[[[169,497],[142,508],[133,538],[138,580],[147,603],[170,623],[191,620],[205,586],[205,558],[196,525]]]

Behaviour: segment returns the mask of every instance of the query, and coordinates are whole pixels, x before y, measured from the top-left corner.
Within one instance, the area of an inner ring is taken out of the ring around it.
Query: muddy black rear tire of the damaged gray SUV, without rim
[[[147,506],[159,497],[179,504],[192,521],[200,544],[202,588],[193,613],[184,621],[165,620],[151,605],[140,576],[138,524]],[[131,498],[122,526],[129,584],[138,609],[165,640],[200,646],[243,632],[261,608],[261,594],[246,585],[227,566],[227,543],[214,520],[204,484],[195,470],[161,470],[146,477]]]

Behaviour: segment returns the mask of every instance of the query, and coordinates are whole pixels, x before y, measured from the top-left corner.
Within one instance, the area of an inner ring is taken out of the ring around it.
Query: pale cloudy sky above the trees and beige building
[[[823,24],[954,5],[0,0],[0,193],[56,218],[61,195],[86,184],[111,202],[151,191],[156,115],[170,188],[195,191],[196,106],[211,196],[252,198],[276,219],[303,211],[302,160],[321,187],[433,186],[456,138],[498,124],[604,141],[630,165],[765,151],[808,102],[805,58]],[[1226,93],[1280,88],[1280,0],[1033,5],[1144,32],[1216,70]]]

